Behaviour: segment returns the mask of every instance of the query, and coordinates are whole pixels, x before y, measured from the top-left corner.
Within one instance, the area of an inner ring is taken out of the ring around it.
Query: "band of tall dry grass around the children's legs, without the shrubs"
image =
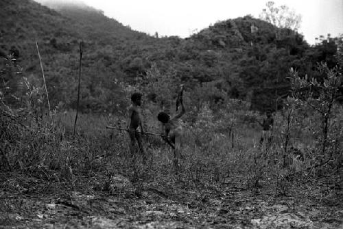
[[[278,195],[286,195],[289,180],[285,179],[289,174],[297,174],[297,178],[314,175],[306,170],[313,164],[312,148],[294,145],[303,154],[301,161],[292,152],[285,155],[279,129],[274,129],[272,144],[267,147],[259,146],[260,131],[249,124],[236,127],[231,134],[211,129],[204,135],[186,124],[183,158],[175,174],[171,166],[173,152],[158,137],[144,138],[145,151],[150,157],[147,163],[140,157],[130,157],[128,135],[106,129],[109,124],[124,126],[123,117],[80,114],[76,136],[73,135],[74,117],[75,112],[62,112],[54,113],[52,118],[22,120],[28,129],[18,127],[20,120],[8,121],[12,127],[8,128],[7,138],[12,136],[14,142],[5,139],[8,143],[4,145],[3,159],[7,159],[8,165],[3,160],[2,170],[19,170],[44,180],[68,180],[74,185],[84,174],[105,177],[123,174],[138,184],[144,180],[159,182],[158,179],[171,178],[183,180],[187,187],[223,183],[230,176],[242,176],[242,182],[253,191],[259,189],[261,181],[272,181]],[[153,116],[147,120],[147,126],[151,126],[151,132],[158,131]],[[197,140],[194,133],[202,138]],[[106,179],[100,186],[99,189],[106,189]]]

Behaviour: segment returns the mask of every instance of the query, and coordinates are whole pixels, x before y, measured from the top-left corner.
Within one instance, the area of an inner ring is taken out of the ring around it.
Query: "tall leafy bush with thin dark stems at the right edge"
[[[298,72],[291,70],[293,92],[295,98],[298,98],[296,101],[305,103],[319,116],[316,125],[311,126],[314,133],[318,133],[316,166],[337,158],[342,150],[338,142],[342,138],[343,126],[337,117],[342,106],[336,103],[342,85],[339,71],[338,67],[330,69],[326,64],[319,64],[318,72],[323,75],[323,79],[317,80],[307,75],[300,78]]]

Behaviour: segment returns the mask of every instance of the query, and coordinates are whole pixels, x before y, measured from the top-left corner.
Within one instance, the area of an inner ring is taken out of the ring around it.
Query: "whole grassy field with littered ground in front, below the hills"
[[[21,135],[14,136],[15,126],[8,132],[21,144],[6,146],[12,151],[0,175],[1,227],[343,225],[342,170],[311,168],[314,138],[292,142],[294,148],[303,143],[304,159],[289,152],[284,166],[277,128],[266,147],[259,146],[261,130],[255,125],[242,123],[223,133],[185,123],[183,158],[175,172],[173,152],[158,137],[144,138],[149,160],[143,163],[139,155],[130,157],[127,133],[106,130],[108,124],[123,125],[121,117],[81,114],[75,136],[74,117],[55,113],[32,122],[31,132],[19,129]],[[147,126],[158,131],[154,118]]]

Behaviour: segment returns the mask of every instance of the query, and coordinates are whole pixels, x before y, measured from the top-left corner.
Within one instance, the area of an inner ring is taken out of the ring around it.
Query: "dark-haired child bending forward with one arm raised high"
[[[182,87],[181,87],[182,92]],[[178,98],[178,103],[181,105],[180,113],[170,118],[169,113],[161,111],[158,113],[157,119],[162,123],[163,134],[165,139],[174,144],[174,167],[178,169],[178,159],[181,157],[180,147],[182,142],[182,123],[180,118],[186,113],[185,105],[183,105],[182,96]]]

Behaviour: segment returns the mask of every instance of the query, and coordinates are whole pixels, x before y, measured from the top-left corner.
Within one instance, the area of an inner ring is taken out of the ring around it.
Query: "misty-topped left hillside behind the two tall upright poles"
[[[71,8],[62,14],[34,1],[4,0],[0,4],[1,53],[18,51],[17,63],[24,68],[23,76],[40,82],[37,40],[52,104],[60,100],[71,107],[75,104],[81,40],[84,42],[82,109],[99,110],[113,105],[113,98],[122,100],[122,88],[113,82],[122,81],[126,75],[117,60],[127,57],[125,49],[137,45],[132,44],[136,37],[148,36],[123,27],[93,9]]]

